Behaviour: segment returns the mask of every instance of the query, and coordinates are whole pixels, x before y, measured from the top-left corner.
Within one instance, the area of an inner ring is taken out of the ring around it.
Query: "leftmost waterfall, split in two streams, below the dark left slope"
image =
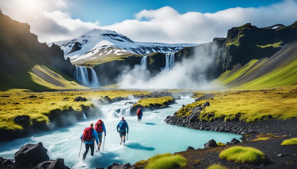
[[[91,87],[99,87],[99,80],[93,68],[91,68],[91,80],[89,80],[88,69],[84,66],[75,66],[74,78]]]

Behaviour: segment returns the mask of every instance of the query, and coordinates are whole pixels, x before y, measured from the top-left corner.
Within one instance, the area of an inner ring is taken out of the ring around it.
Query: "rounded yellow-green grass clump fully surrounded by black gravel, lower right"
[[[234,146],[223,150],[220,158],[234,162],[256,163],[265,160],[265,154],[253,147]]]

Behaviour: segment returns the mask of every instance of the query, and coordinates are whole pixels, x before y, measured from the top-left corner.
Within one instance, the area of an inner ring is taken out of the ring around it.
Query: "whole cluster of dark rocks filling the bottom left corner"
[[[3,169],[70,169],[64,159],[49,160],[47,149],[41,142],[26,144],[15,153],[15,163],[0,157],[0,168]]]

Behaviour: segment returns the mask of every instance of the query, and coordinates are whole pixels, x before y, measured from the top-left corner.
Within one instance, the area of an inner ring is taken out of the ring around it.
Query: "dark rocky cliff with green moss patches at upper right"
[[[271,57],[286,43],[297,38],[297,22],[273,28],[257,28],[250,23],[228,30],[226,42],[219,49],[217,64],[222,70],[231,70],[233,65],[247,64],[251,59]]]

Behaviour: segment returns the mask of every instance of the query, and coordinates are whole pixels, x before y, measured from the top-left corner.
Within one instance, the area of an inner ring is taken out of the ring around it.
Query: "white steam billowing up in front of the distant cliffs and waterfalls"
[[[206,71],[217,59],[217,46],[204,44],[195,47],[194,56],[176,62],[172,69],[163,69],[155,76],[140,65],[131,70],[126,68],[118,77],[120,88],[195,88],[211,89],[214,86],[206,80]],[[164,65],[165,66],[165,65]]]

